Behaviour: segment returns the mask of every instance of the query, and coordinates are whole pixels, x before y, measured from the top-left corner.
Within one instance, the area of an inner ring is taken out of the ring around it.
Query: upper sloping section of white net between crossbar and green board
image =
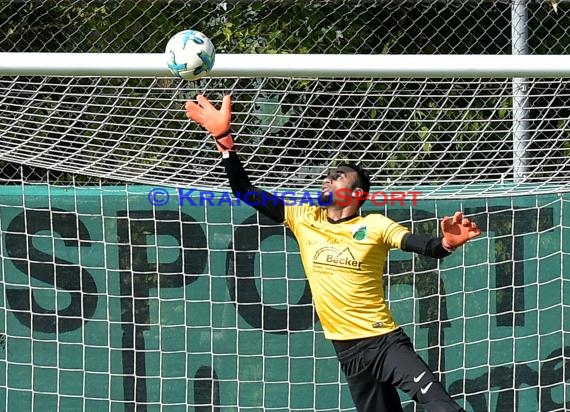
[[[200,82],[2,79],[0,158],[62,179],[227,188],[211,138],[184,113],[207,90],[217,106],[232,94],[239,151],[253,181],[270,188],[316,190],[344,160],[361,162],[378,186],[431,197],[562,191],[570,181],[566,79],[524,83],[520,120],[508,79]]]

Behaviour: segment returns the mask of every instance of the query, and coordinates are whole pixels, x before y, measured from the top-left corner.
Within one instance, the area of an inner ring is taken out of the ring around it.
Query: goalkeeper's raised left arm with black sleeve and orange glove
[[[226,169],[233,194],[243,202],[254,207],[277,223],[285,220],[285,204],[275,194],[266,192],[251,184],[247,172],[239,160],[231,135],[231,99],[224,96],[222,107],[216,109],[202,95],[196,97],[196,102],[186,102],[186,116],[206,129],[222,154],[222,162]]]

